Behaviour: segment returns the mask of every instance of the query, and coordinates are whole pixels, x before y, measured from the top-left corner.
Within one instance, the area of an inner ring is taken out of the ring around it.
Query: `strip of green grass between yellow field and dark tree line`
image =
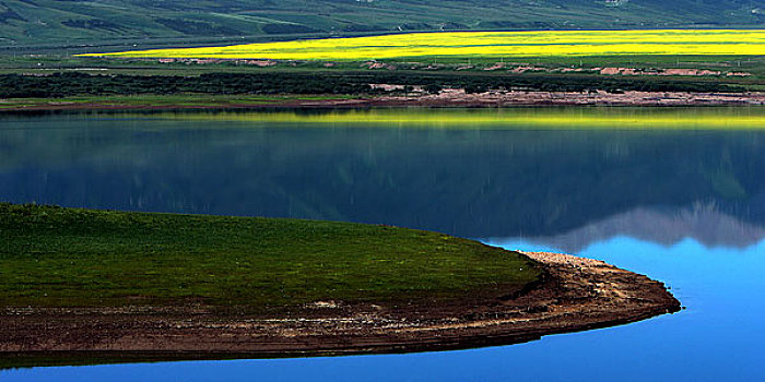
[[[624,55],[624,56],[587,56],[587,57],[533,57],[510,59],[490,56],[443,56],[426,58],[402,58],[385,60],[397,67],[397,72],[421,71],[427,65],[438,67],[442,71],[496,75],[502,70],[484,71],[496,63],[506,64],[506,69],[520,65],[542,68],[582,68],[603,67],[627,68],[684,68],[726,71],[744,71],[754,76],[765,75],[765,56],[673,56],[673,55]],[[114,57],[72,57],[61,55],[23,55],[8,56],[0,53],[0,74],[35,74],[81,72],[90,74],[128,74],[128,75],[200,75],[203,73],[256,73],[256,72],[348,72],[370,71],[360,62],[333,61],[326,67],[321,61],[274,61],[273,65],[259,68],[237,60],[221,60],[212,63],[172,62],[161,63],[157,59]],[[470,64],[470,69],[464,67]],[[375,71],[375,70],[372,70]],[[380,71],[380,70],[376,70]]]

